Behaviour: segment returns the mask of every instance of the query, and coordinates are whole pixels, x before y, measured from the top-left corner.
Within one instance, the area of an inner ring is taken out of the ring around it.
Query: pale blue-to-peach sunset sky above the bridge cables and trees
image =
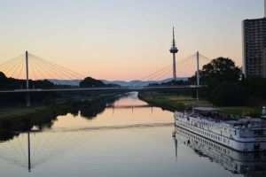
[[[200,51],[242,65],[243,19],[262,0],[0,0],[0,64],[25,50],[97,79],[130,81]],[[178,75],[178,71],[177,71]]]

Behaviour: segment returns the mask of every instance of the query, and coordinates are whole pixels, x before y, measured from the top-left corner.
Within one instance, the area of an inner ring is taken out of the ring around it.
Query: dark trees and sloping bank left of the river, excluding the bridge
[[[105,84],[91,77],[81,81],[80,87],[113,87],[118,85]],[[26,89],[26,81],[7,77],[0,72],[0,89]],[[29,80],[30,89],[51,89],[77,87],[70,85],[56,85],[49,80]],[[91,93],[57,93],[36,92],[30,93],[32,107],[26,107],[24,93],[4,93],[0,95],[0,141],[12,138],[12,131],[28,130],[33,126],[51,127],[59,115],[66,113],[77,114],[86,119],[93,119],[98,112],[103,112],[106,103],[116,99],[118,93],[103,92]],[[9,137],[9,135],[11,137]]]

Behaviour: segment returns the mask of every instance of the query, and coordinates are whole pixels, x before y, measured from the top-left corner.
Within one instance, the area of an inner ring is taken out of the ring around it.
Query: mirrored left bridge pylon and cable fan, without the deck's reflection
[[[84,137],[74,132],[27,131],[16,134],[18,136],[12,140],[0,143],[0,158],[27,168],[28,172],[71,149],[74,144],[84,142]]]

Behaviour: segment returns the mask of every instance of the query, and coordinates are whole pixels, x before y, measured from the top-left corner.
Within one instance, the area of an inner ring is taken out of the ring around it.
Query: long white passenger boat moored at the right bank
[[[233,150],[266,150],[266,121],[233,118],[214,108],[194,108],[193,112],[175,112],[176,126],[182,127]]]

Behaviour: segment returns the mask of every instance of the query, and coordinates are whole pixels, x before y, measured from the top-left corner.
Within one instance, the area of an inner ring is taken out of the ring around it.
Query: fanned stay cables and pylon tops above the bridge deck
[[[203,65],[210,62],[210,59],[199,53],[199,69]],[[192,77],[197,73],[197,53],[181,59],[176,63],[177,78]],[[136,81],[161,81],[172,78],[173,65],[167,65],[160,68],[158,71],[148,73],[142,78],[136,78]],[[19,80],[52,81],[56,86],[59,85],[76,85],[76,81],[83,80],[86,76],[81,73],[76,73],[62,65],[55,64],[48,59],[40,58],[34,54],[22,54],[16,58],[0,64],[0,72],[3,72],[7,77]],[[137,86],[136,82],[130,86]],[[34,89],[35,86],[32,86]],[[27,83],[18,89],[27,89]]]

